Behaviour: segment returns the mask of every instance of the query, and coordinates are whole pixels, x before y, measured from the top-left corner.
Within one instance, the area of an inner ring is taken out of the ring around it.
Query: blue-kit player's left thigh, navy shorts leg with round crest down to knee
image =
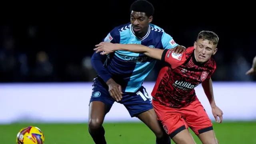
[[[89,104],[89,128],[99,128],[105,115],[112,107],[114,100],[110,97],[108,90],[100,83],[94,84]]]

